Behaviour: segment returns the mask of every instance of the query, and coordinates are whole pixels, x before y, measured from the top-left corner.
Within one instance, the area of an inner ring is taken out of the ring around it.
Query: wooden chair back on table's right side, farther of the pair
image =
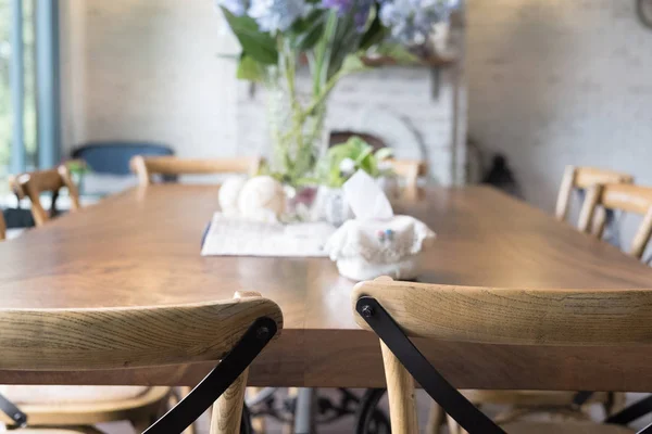
[[[595,167],[566,166],[557,194],[555,217],[560,221],[566,220],[570,204],[570,194],[575,189],[586,190],[595,184],[632,182],[634,177],[628,174]]]

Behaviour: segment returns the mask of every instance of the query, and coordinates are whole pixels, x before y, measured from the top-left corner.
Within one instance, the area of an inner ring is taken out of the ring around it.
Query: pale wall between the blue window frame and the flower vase
[[[236,52],[210,0],[61,1],[63,146],[155,140],[235,154]]]

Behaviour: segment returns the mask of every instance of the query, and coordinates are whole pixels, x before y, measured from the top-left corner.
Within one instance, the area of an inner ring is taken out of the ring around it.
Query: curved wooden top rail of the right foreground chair
[[[527,290],[362,282],[410,336],[522,345],[652,345],[652,290]],[[361,327],[365,322],[356,317]]]

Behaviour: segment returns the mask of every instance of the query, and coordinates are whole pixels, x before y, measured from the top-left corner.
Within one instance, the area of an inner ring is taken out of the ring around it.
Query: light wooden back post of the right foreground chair
[[[418,433],[414,379],[391,349],[380,342],[392,434]]]

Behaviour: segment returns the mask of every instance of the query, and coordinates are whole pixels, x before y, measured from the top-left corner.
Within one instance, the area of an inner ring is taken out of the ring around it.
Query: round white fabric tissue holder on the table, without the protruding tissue
[[[346,221],[326,243],[340,275],[353,280],[379,276],[410,280],[418,276],[422,254],[435,241],[423,221],[411,216]]]

